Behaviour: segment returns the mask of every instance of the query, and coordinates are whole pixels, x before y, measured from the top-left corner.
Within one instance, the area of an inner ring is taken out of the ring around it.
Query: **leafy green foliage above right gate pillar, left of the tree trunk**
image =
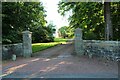
[[[59,13],[64,15],[66,11],[72,10],[72,15],[69,17],[70,26],[73,28],[83,29],[83,39],[87,38],[88,32],[90,35],[95,35],[94,39],[103,38],[104,18],[102,11],[102,3],[82,3],[82,2],[61,2],[59,5]]]

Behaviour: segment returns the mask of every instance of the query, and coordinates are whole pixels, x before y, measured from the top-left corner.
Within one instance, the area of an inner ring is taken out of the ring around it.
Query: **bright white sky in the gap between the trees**
[[[69,15],[66,16],[61,16],[60,13],[58,13],[58,3],[60,0],[40,0],[43,3],[43,6],[45,7],[45,10],[47,11],[47,17],[46,20],[48,24],[50,22],[53,22],[54,25],[56,25],[56,34],[57,36],[57,31],[60,27],[62,26],[68,26],[69,23],[67,21],[67,18]]]

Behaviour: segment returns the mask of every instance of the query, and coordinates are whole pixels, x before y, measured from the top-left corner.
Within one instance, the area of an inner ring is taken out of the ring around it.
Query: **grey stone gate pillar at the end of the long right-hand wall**
[[[75,53],[78,56],[81,56],[84,54],[82,29],[80,29],[80,28],[77,28],[75,30]]]

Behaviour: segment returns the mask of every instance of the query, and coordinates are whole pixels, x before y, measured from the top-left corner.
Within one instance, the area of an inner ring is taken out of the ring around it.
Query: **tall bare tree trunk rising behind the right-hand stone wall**
[[[110,16],[110,2],[104,3],[104,18],[105,18],[105,40],[112,40],[113,31],[112,31],[112,23]]]

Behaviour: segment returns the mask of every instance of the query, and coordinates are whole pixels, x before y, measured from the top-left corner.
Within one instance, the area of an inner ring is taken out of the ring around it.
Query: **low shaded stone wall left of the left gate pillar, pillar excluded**
[[[23,56],[23,43],[2,45],[2,59],[11,59],[12,54]]]

